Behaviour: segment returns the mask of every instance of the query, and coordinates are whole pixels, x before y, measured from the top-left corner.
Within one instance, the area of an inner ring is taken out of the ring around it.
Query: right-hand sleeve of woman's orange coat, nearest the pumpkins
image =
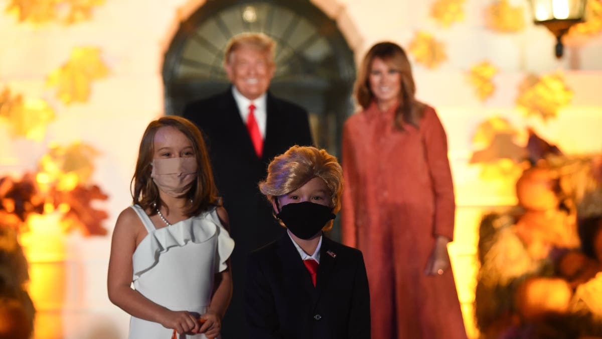
[[[435,222],[433,235],[447,236],[453,239],[453,227],[456,211],[453,192],[452,171],[447,159],[447,135],[441,121],[432,107],[424,112],[423,142],[430,177],[435,193]]]

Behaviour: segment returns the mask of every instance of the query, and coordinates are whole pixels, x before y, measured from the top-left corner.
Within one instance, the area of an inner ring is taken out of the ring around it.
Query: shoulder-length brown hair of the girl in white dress
[[[180,116],[163,116],[163,118],[151,121],[146,127],[140,142],[140,150],[138,150],[136,170],[130,183],[130,188],[132,184],[134,185],[132,198],[134,198],[134,204],[138,204],[145,211],[149,211],[151,215],[155,215],[157,213],[156,208],[161,207],[159,189],[151,178],[151,163],[155,151],[155,134],[157,134],[159,128],[167,126],[177,128],[184,133],[194,149],[198,169],[197,178],[185,194],[185,198],[190,200],[191,203],[187,204],[184,209],[184,214],[187,217],[193,217],[206,211],[211,206],[215,206],[219,202],[219,198],[217,198],[217,188],[213,182],[213,172],[211,171],[211,163],[209,162],[203,136],[196,125]]]

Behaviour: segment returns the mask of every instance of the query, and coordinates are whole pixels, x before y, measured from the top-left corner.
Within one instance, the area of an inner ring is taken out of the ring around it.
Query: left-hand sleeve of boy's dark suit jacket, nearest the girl
[[[270,285],[259,265],[258,256],[249,255],[244,285],[244,312],[249,339],[283,339]]]

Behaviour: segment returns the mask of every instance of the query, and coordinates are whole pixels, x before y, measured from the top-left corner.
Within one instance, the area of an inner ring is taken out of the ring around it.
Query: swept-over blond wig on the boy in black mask
[[[267,168],[267,177],[259,183],[259,190],[273,203],[281,195],[288,194],[318,177],[324,180],[330,194],[332,213],[341,209],[343,170],[336,157],[326,150],[297,146],[275,157]],[[323,230],[332,228],[330,220]]]

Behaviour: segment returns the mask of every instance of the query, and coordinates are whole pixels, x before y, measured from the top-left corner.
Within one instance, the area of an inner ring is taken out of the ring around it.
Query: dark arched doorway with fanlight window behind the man
[[[272,37],[276,74],[270,91],[310,113],[314,141],[339,154],[341,127],[353,111],[353,52],[337,28],[309,0],[209,0],[179,27],[165,55],[166,114],[229,86],[223,70],[228,40],[244,31]]]

